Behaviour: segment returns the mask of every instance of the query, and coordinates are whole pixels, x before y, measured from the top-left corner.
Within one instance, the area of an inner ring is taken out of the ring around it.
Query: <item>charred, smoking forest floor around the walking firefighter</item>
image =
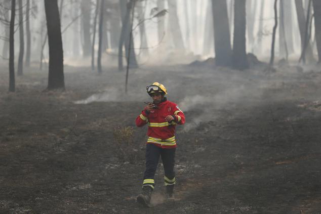
[[[36,69],[34,69],[36,70]],[[0,213],[321,213],[321,69],[206,65],[125,72],[65,67],[65,92],[26,69],[0,71]],[[135,118],[159,81],[184,111],[175,204],[159,163],[154,207],[136,202],[146,127]]]

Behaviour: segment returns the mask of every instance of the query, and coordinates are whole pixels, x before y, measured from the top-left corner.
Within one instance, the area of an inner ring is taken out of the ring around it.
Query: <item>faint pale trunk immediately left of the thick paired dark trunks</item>
[[[213,14],[212,14],[212,1],[207,0],[208,6],[206,9],[205,30],[204,30],[204,44],[203,54],[209,55],[214,47],[214,32],[213,32]]]

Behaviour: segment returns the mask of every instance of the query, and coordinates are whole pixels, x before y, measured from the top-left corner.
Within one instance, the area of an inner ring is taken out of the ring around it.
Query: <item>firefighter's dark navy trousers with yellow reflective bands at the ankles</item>
[[[146,145],[146,170],[144,173],[144,186],[150,186],[152,189],[155,186],[154,175],[157,169],[159,156],[162,157],[165,177],[165,186],[174,185],[175,182],[175,151],[176,148],[163,149],[156,145],[148,143]]]

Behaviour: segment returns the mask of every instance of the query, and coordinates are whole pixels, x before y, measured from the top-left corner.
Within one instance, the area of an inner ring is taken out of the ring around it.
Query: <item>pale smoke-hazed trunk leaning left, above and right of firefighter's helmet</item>
[[[184,43],[181,27],[177,17],[177,0],[168,1],[169,5],[169,29],[176,49],[184,51]]]

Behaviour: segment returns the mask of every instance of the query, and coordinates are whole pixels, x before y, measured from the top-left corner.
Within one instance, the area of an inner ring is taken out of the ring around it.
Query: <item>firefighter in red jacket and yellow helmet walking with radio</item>
[[[164,165],[164,182],[167,200],[174,202],[174,185],[176,177],[175,165],[175,127],[184,124],[185,116],[179,107],[167,100],[167,90],[163,84],[154,82],[147,88],[148,95],[153,102],[148,103],[142,113],[136,118],[136,125],[148,125],[146,143],[146,169],[143,178],[142,193],[137,196],[137,201],[151,207],[150,198],[154,189],[154,175],[158,165],[159,156]]]

